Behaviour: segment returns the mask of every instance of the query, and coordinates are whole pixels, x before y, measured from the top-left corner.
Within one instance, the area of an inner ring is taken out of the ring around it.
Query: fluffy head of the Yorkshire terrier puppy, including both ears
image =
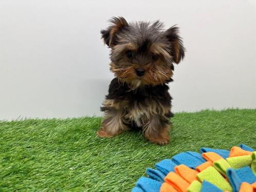
[[[101,34],[111,48],[111,71],[120,81],[136,89],[171,79],[173,63],[185,55],[177,27],[163,30],[159,21],[127,23],[123,17],[113,17],[111,23]]]

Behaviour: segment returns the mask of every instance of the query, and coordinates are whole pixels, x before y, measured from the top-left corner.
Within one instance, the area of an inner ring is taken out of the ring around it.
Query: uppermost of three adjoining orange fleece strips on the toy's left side
[[[176,174],[185,179],[187,182],[192,183],[194,180],[197,180],[196,174],[198,172],[194,169],[189,168],[186,165],[178,165],[174,167]]]

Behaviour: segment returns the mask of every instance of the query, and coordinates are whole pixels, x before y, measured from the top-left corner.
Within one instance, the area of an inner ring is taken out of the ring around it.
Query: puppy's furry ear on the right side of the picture
[[[175,25],[164,32],[170,42],[170,54],[173,56],[174,62],[178,64],[185,56],[185,48],[181,37],[179,36],[179,28]]]

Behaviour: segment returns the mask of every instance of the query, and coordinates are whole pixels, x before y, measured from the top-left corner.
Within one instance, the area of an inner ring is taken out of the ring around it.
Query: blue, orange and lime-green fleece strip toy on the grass
[[[132,192],[256,192],[256,151],[241,144],[224,149],[187,151],[146,170]]]

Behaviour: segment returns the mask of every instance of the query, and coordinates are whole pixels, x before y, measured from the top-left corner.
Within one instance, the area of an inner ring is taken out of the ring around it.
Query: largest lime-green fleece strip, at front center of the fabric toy
[[[204,180],[216,185],[218,188],[222,190],[232,191],[231,185],[222,177],[220,172],[218,172],[213,166],[210,166],[199,172],[197,174],[197,178],[199,181],[203,182]]]

